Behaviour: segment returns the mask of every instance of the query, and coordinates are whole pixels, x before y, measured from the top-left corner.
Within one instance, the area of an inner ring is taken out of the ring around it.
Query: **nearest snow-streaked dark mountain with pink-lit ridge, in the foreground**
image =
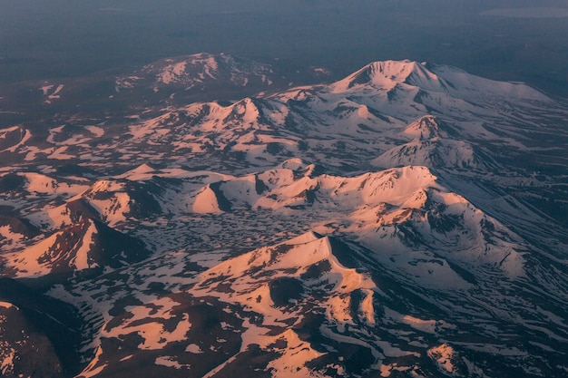
[[[225,255],[169,254],[75,286],[73,301],[109,309],[81,376],[113,376],[122,361],[132,373],[186,377],[539,376],[555,371],[544,361],[563,364],[568,328],[546,317],[565,316],[563,300],[527,306],[522,282],[410,285],[368,249],[315,233],[217,260]],[[112,282],[120,303],[101,292]],[[502,285],[515,296],[504,299]]]

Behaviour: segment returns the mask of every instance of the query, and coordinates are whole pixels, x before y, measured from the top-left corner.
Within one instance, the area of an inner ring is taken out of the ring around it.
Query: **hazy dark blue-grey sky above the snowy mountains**
[[[568,93],[566,35],[565,0],[0,0],[0,82],[225,52],[339,76],[408,58]]]

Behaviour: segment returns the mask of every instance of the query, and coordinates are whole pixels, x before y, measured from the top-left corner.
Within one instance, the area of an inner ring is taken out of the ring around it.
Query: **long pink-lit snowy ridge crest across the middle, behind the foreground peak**
[[[293,168],[296,170],[268,170],[209,184],[196,194],[193,211],[220,214],[236,208],[278,210],[305,207],[337,207],[341,211],[353,211],[385,202],[402,206],[409,197],[414,198],[416,191],[443,189],[430,170],[419,166],[353,178],[318,174],[314,165]]]

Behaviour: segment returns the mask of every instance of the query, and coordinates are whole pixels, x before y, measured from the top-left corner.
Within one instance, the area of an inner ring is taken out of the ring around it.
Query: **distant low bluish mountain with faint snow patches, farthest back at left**
[[[0,151],[31,136],[30,130],[21,130],[19,123],[43,118],[51,124],[58,113],[78,111],[85,120],[101,118],[92,125],[96,126],[105,116],[119,120],[132,116],[132,112],[142,114],[168,105],[232,102],[299,84],[328,82],[331,75],[324,68],[290,67],[278,60],[260,63],[227,53],[196,53],[85,77],[5,84],[0,88],[0,137],[5,135],[0,138]],[[5,128],[5,124],[15,126]],[[41,133],[44,129],[31,130],[32,134],[34,131]]]

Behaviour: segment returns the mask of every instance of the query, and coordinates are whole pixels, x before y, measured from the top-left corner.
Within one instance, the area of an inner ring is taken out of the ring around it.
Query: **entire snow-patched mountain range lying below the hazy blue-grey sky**
[[[302,74],[2,89],[0,376],[568,376],[565,100]]]

